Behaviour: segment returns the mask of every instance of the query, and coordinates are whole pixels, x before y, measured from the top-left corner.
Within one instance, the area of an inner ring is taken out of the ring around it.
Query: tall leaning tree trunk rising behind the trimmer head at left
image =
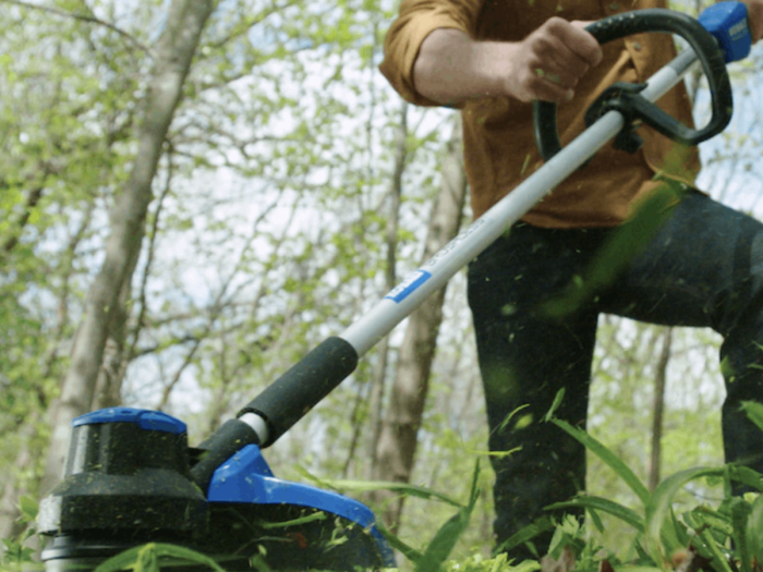
[[[146,211],[152,200],[152,182],[165,138],[213,8],[213,0],[173,0],[169,8],[167,27],[159,39],[144,102],[137,155],[126,186],[114,205],[106,258],[87,293],[84,315],[74,338],[71,365],[61,395],[52,407],[52,435],[41,494],[46,494],[61,476],[72,419],[87,411],[93,402],[111,315],[118,307],[123,288],[129,288],[141,252]]]

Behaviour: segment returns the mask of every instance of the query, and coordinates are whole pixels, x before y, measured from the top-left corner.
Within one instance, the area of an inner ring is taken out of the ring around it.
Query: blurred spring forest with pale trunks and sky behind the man
[[[197,443],[470,222],[458,114],[402,104],[377,71],[396,8],[0,0],[0,538],[59,478],[73,417],[160,409]],[[735,120],[702,146],[700,179],[759,217],[762,61],[731,68]],[[703,83],[688,85],[702,123]],[[718,344],[601,319],[589,430],[652,486],[723,463]],[[459,273],[267,459],[286,478],[464,499],[483,459],[459,550],[487,553],[485,449]],[[633,500],[596,459],[588,489]],[[413,546],[449,516],[363,500]]]

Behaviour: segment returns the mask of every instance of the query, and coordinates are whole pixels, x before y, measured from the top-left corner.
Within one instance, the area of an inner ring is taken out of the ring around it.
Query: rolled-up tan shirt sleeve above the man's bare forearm
[[[473,37],[483,1],[402,0],[398,19],[387,32],[379,70],[407,101],[441,106],[413,87],[413,64],[419,50],[424,39],[438,28],[456,28]]]

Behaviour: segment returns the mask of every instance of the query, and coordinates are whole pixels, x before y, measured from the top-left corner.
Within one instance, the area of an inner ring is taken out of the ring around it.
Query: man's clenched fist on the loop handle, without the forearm
[[[520,41],[505,78],[520,101],[572,99],[580,78],[602,61],[602,48],[583,27],[588,22],[552,17]]]

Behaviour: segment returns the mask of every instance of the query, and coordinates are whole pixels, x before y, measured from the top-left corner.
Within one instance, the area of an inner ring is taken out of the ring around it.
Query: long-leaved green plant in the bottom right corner
[[[763,406],[747,403],[748,415],[756,424],[763,424]],[[756,419],[756,421],[755,421]],[[566,502],[546,507],[547,510],[567,508],[585,509],[590,522],[602,531],[597,513],[606,513],[628,524],[634,533],[632,553],[635,560],[620,563],[614,557],[617,572],[637,570],[714,570],[715,572],[761,572],[763,567],[763,500],[758,492],[741,497],[731,494],[731,482],[748,489],[763,490],[763,478],[755,471],[728,464],[720,467],[695,467],[668,476],[653,491],[644,486],[635,473],[613,451],[584,430],[567,422],[552,418],[552,423],[586,447],[628,485],[641,503],[633,509],[613,500],[581,494]],[[759,423],[760,422],[760,423]],[[724,499],[717,508],[699,504],[680,515],[674,512],[677,495],[688,484],[710,479],[724,483]],[[556,524],[552,541],[552,557],[565,546],[576,551],[578,560],[592,550],[592,535],[572,530],[573,519],[562,519]],[[536,523],[520,531],[502,548],[510,549],[522,541],[531,541],[541,532]],[[585,541],[580,541],[585,538]],[[621,547],[620,547],[621,548]],[[685,556],[682,556],[685,555]],[[692,561],[686,562],[688,559]],[[589,557],[590,560],[590,557]],[[609,560],[607,561],[608,564]],[[693,562],[693,563],[692,563]],[[585,568],[585,567],[583,567]]]

